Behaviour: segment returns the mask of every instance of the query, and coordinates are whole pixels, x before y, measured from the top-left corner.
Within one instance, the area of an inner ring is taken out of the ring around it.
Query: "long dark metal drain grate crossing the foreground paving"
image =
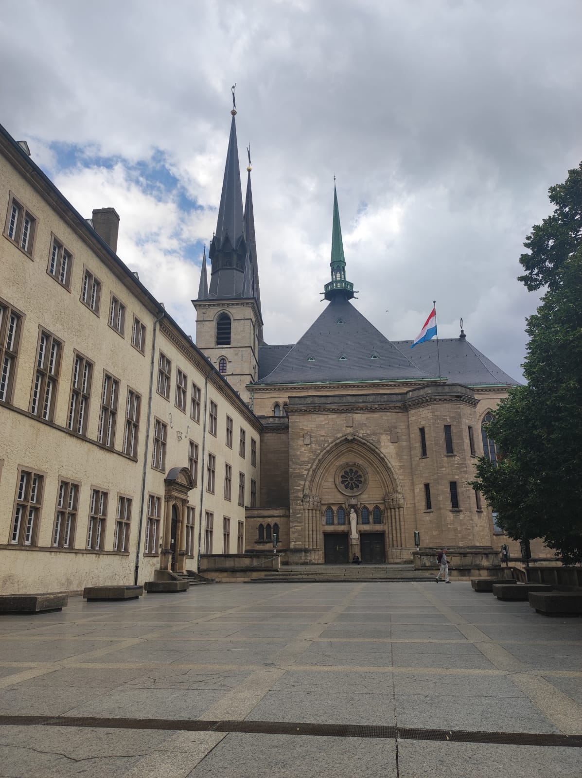
[[[244,734],[315,735],[319,738],[388,738],[400,740],[490,743],[495,745],[566,746],[582,748],[582,735],[534,732],[475,732],[468,730],[381,727],[366,724],[303,724],[299,721],[205,721],[190,719],[122,719],[73,716],[0,716],[0,726],[87,727],[96,729],[237,732]]]

